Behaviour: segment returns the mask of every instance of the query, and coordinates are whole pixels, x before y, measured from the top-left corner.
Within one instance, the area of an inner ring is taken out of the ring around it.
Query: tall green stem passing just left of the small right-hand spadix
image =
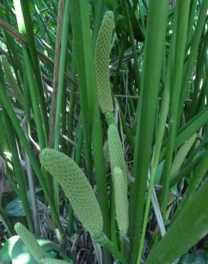
[[[181,16],[183,14],[183,16]],[[170,185],[170,172],[172,166],[172,156],[175,148],[175,136],[177,133],[177,117],[180,101],[182,72],[184,64],[185,44],[187,41],[187,24],[189,16],[189,1],[180,1],[177,4],[176,13],[176,35],[175,35],[175,58],[172,66],[172,91],[170,102],[170,131],[167,141],[167,152],[165,156],[164,169],[162,171],[162,193],[161,193],[161,213],[165,220],[167,199]]]

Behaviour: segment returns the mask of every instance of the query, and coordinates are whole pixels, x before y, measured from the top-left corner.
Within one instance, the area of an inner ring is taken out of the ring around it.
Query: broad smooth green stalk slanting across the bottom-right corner
[[[208,233],[208,183],[194,194],[150,253],[146,264],[171,264]]]

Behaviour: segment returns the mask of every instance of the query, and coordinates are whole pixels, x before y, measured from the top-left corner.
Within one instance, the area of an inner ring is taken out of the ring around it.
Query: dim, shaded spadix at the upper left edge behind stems
[[[6,56],[1,56],[1,61],[4,68],[6,81],[7,83],[9,83],[11,92],[13,93],[14,97],[19,102],[19,104],[23,106],[23,93],[21,92],[21,89],[19,88],[16,79],[14,78],[14,75],[11,72],[9,61],[7,60]]]

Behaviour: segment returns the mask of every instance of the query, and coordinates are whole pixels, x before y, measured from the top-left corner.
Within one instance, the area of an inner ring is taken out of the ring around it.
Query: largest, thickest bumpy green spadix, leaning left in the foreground
[[[65,154],[51,148],[41,151],[42,166],[56,178],[63,188],[73,210],[83,226],[91,235],[98,235],[103,230],[103,217],[83,171]]]

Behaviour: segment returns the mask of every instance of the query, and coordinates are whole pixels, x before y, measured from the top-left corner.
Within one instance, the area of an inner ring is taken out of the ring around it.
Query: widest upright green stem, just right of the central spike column
[[[130,190],[131,240],[129,262],[131,264],[135,264],[137,260],[138,242],[142,228],[147,171],[150,163],[157,96],[160,88],[162,57],[164,54],[167,9],[166,0],[160,1],[160,5],[158,5],[158,1],[156,0],[152,0],[149,3],[140,111],[137,111],[139,115],[136,116],[137,131],[133,162],[135,183],[132,183]]]

